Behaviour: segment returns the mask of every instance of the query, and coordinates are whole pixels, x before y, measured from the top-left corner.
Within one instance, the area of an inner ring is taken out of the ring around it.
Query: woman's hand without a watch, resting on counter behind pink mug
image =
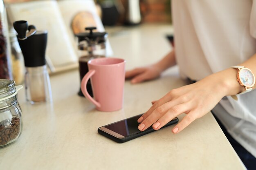
[[[156,65],[135,68],[131,71],[126,72],[126,79],[130,79],[131,83],[136,84],[144,82],[146,80],[151,80],[159,77],[161,75],[160,69]]]

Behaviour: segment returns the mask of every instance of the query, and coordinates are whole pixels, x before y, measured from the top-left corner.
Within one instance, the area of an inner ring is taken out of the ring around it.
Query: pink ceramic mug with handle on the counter
[[[88,62],[89,71],[83,77],[81,90],[97,110],[115,111],[123,107],[125,60],[120,58],[96,58]],[[89,95],[86,84],[91,79],[94,99]]]

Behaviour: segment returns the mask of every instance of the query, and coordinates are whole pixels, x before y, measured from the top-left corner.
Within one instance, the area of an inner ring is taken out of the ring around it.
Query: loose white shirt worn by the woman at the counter
[[[182,77],[200,80],[256,53],[256,0],[172,0],[172,12]],[[256,157],[256,90],[224,97],[214,113]]]

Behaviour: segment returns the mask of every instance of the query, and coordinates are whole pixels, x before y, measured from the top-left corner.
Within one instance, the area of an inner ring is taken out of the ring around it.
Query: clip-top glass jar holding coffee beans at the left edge
[[[22,113],[17,96],[21,88],[12,80],[0,79],[0,147],[16,141],[22,131]]]

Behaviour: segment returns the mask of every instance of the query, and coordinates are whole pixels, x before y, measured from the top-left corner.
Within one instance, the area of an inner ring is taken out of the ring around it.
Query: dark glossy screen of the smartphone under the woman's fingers
[[[124,137],[128,137],[129,135],[140,132],[138,129],[139,123],[137,122],[140,117],[141,115],[137,115],[135,117],[130,117],[128,119],[124,119],[104,127],[120,135],[123,135]],[[149,128],[152,128],[152,126]]]

